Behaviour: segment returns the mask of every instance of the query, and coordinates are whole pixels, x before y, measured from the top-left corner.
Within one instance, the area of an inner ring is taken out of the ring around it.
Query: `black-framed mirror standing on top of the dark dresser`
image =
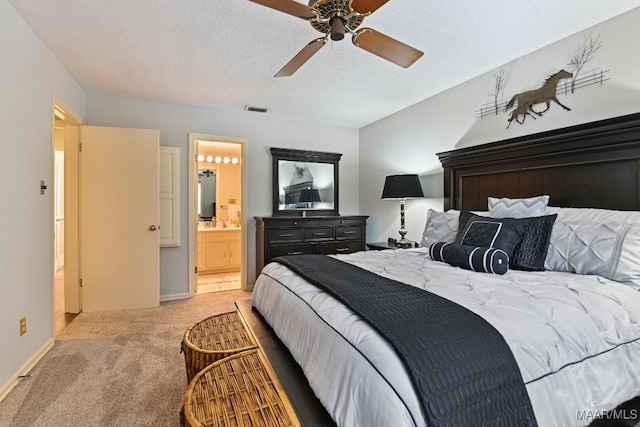
[[[342,154],[271,148],[273,215],[338,215]]]

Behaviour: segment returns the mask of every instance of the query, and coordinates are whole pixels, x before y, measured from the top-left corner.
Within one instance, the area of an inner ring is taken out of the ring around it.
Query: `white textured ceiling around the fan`
[[[89,91],[232,111],[265,107],[269,116],[354,128],[638,7],[636,0],[391,0],[363,26],[422,50],[412,67],[347,36],[293,76],[274,78],[320,33],[248,0],[9,1]]]

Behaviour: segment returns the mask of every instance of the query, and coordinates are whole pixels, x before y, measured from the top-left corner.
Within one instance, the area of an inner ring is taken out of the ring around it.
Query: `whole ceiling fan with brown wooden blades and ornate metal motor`
[[[316,54],[327,39],[337,41],[351,34],[354,45],[387,61],[407,68],[423,53],[371,28],[358,27],[364,18],[371,15],[389,0],[310,0],[309,5],[295,0],[250,0],[280,12],[305,19],[324,36],[307,44],[274,77],[286,77],[295,73]]]

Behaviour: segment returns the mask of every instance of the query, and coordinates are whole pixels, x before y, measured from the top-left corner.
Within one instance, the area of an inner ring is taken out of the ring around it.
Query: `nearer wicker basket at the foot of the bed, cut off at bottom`
[[[219,360],[199,372],[184,396],[190,427],[299,427],[273,368],[260,349]]]

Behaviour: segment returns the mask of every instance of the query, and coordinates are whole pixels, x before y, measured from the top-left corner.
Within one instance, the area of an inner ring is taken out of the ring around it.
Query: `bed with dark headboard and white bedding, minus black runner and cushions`
[[[485,319],[517,362],[532,425],[588,425],[607,414],[637,419],[637,412],[609,411],[640,396],[640,115],[439,156],[445,210],[457,221],[460,211],[486,215],[495,207],[490,197],[550,196],[544,214],[556,217],[547,269],[478,273],[433,260],[429,247],[336,258]],[[428,215],[428,242],[433,219],[445,214]],[[455,237],[455,222],[435,240]],[[582,244],[567,246],[576,240]],[[338,298],[271,263],[256,281],[252,305],[338,425],[430,424],[395,346]]]

